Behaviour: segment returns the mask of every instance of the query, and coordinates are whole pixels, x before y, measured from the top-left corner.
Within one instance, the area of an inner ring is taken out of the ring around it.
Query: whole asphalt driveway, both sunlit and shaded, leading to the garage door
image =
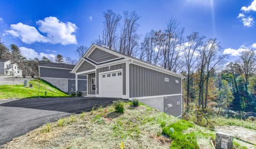
[[[93,106],[106,106],[113,100],[87,97],[0,100],[0,145],[47,122],[90,111]]]

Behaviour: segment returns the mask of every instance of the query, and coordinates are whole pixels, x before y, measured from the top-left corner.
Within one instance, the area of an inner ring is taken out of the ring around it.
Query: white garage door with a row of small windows
[[[122,71],[100,74],[99,95],[100,97],[122,98]]]

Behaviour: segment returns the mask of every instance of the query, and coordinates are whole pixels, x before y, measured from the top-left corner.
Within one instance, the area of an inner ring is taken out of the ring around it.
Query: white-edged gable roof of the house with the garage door
[[[85,52],[84,56],[81,59],[79,59],[79,61],[77,62],[76,66],[73,68],[73,70],[71,72],[75,73],[77,67],[79,67],[81,65],[81,62],[83,60],[87,59],[87,57],[90,56],[91,52],[94,49],[96,49],[96,48],[98,48],[100,50],[103,50],[103,51],[106,51],[106,52],[109,52],[110,54],[116,55],[118,57],[125,58],[127,60],[132,60],[133,62],[137,62],[138,64],[140,63],[140,64],[144,64],[144,65],[150,66],[152,69],[158,69],[158,70],[161,70],[161,71],[163,71],[163,72],[165,72],[167,74],[174,75],[174,76],[181,77],[181,78],[185,78],[185,76],[182,76],[182,75],[180,75],[178,73],[174,73],[174,72],[169,71],[167,69],[164,69],[162,67],[153,65],[151,63],[145,62],[144,60],[141,60],[141,59],[138,59],[138,58],[126,55],[126,54],[122,54],[122,53],[119,53],[119,52],[117,52],[117,51],[115,51],[113,49],[105,48],[105,47],[102,47],[102,46],[99,46],[99,45],[96,45],[96,44],[91,45],[91,47]],[[109,63],[109,62],[106,62],[106,63]]]

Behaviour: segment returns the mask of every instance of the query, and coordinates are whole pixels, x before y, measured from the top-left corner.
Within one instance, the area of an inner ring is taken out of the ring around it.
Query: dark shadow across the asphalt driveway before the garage
[[[80,113],[90,111],[93,106],[107,106],[115,99],[95,98],[95,97],[77,97],[77,98],[39,98],[39,99],[21,99],[0,104],[3,107],[19,107],[39,110],[51,110],[68,113]]]

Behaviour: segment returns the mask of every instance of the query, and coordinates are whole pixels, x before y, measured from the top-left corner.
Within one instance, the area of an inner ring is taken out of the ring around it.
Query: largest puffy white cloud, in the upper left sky
[[[44,20],[36,22],[39,33],[35,27],[23,23],[11,24],[11,30],[5,31],[13,37],[20,38],[22,42],[34,43],[61,43],[61,45],[77,44],[76,36],[73,34],[78,28],[75,23],[60,22],[57,17],[45,17]]]

